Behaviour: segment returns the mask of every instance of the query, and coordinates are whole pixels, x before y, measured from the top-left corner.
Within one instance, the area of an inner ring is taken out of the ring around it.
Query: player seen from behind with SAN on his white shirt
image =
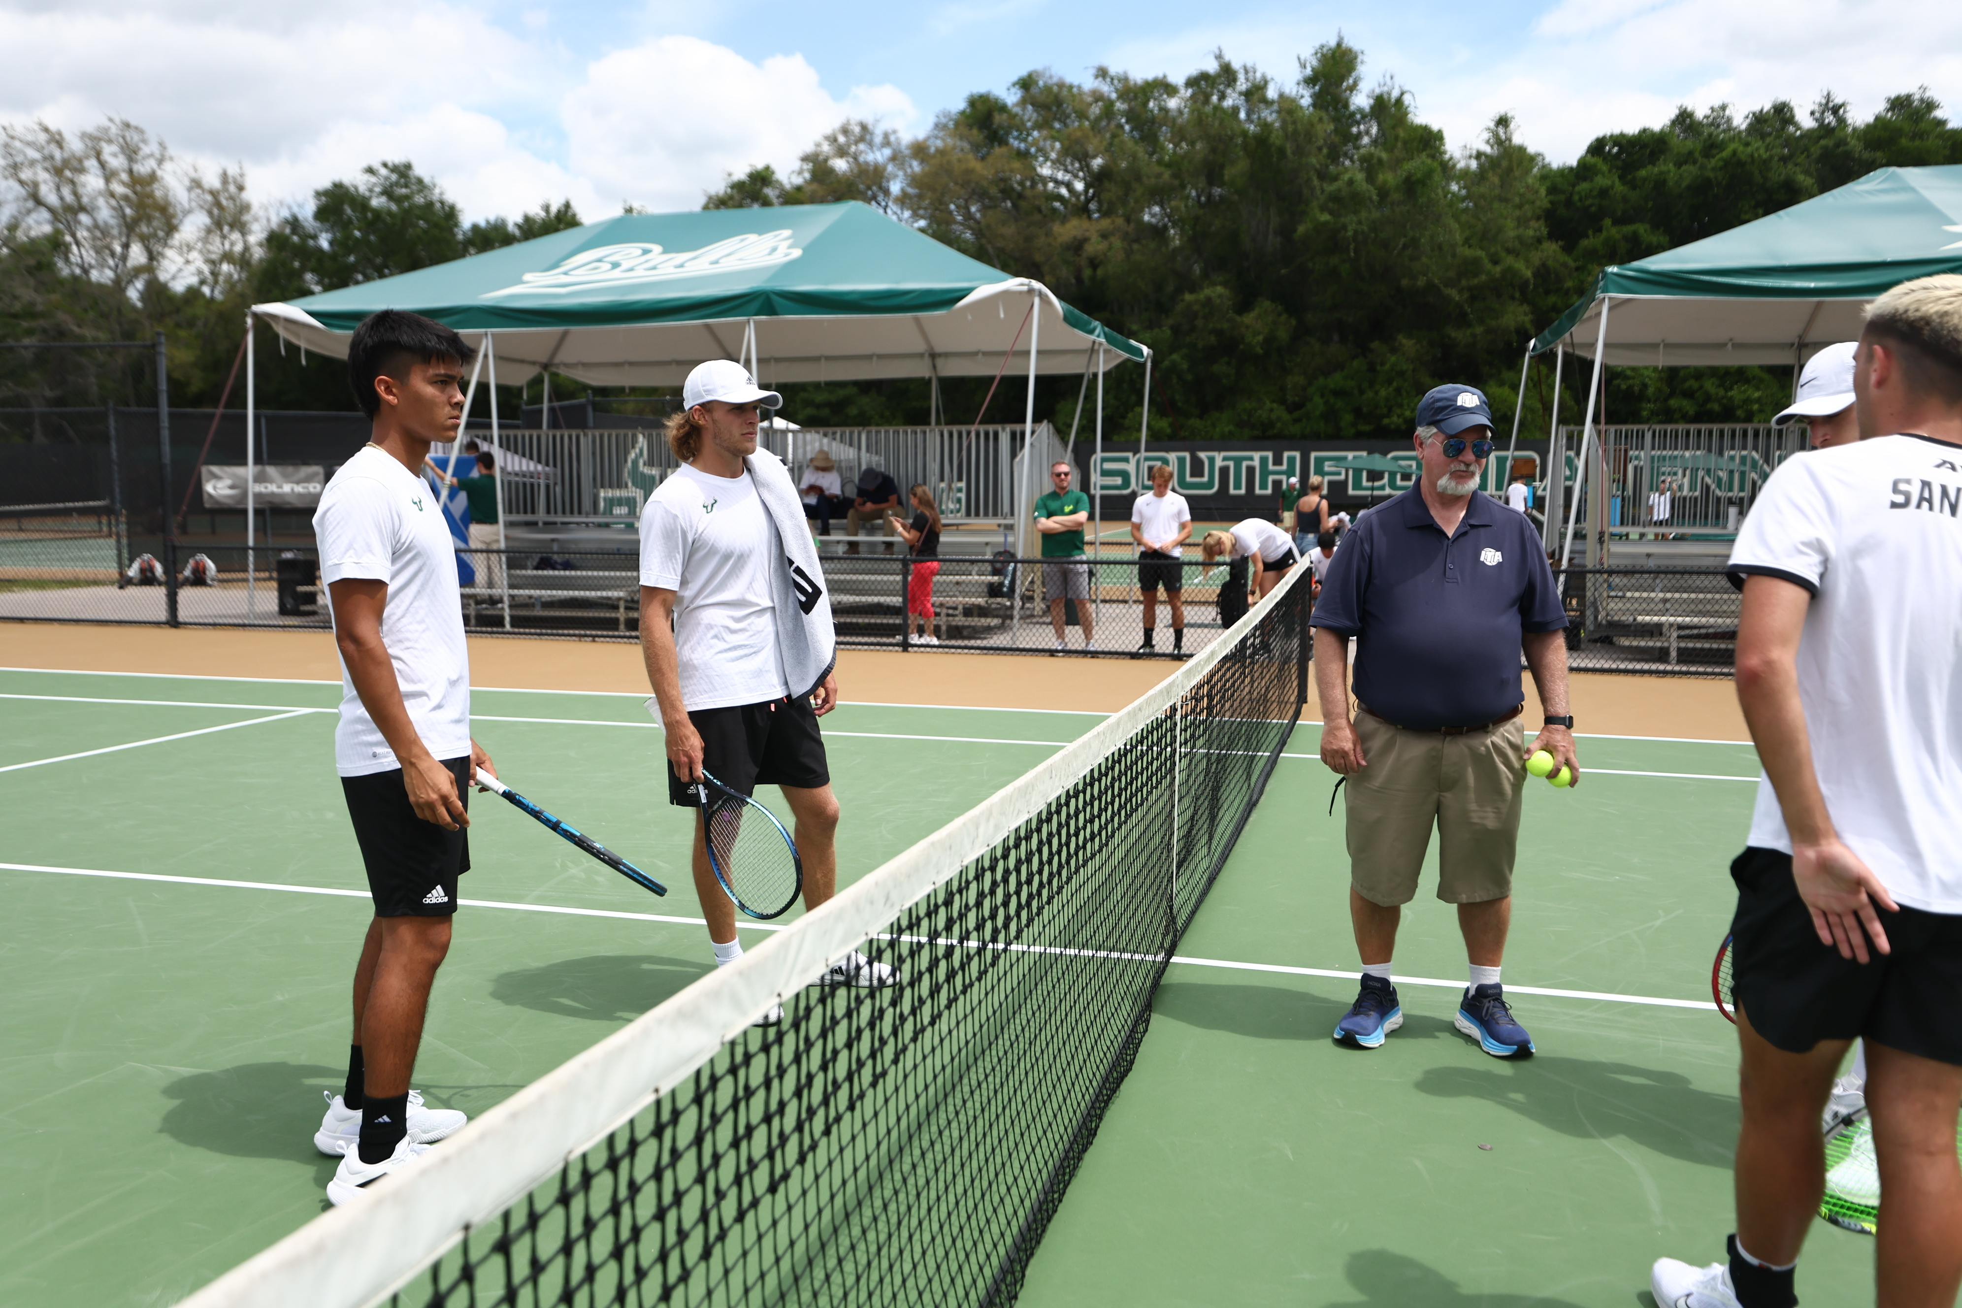
[[[1736,688],[1764,761],[1738,886],[1729,1263],[1660,1259],[1662,1308],[1785,1308],[1854,1037],[1880,1163],[1880,1308],[1962,1284],[1962,277],[1868,310],[1862,439],[1787,459],[1736,547]]]

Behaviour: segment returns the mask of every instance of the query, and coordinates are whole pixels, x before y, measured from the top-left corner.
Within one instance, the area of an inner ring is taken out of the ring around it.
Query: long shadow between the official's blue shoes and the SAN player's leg
[[[1540,1053],[1528,1063],[1430,1067],[1417,1088],[1438,1098],[1483,1098],[1577,1139],[1623,1135],[1656,1153],[1730,1167],[1736,1096],[1711,1094],[1679,1073]]]

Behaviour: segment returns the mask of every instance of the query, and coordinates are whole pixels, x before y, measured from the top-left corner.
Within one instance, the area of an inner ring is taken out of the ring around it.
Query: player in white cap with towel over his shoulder
[[[771,571],[785,567],[787,551],[759,482],[797,492],[783,461],[757,451],[755,429],[761,410],[779,408],[783,396],[759,390],[740,363],[712,359],[689,373],[681,402],[667,422],[681,467],[640,512],[640,643],[667,731],[667,800],[697,810],[695,892],[716,967],[726,967],[742,957],[736,904],[708,865],[695,782],[706,769],[742,794],[759,784],[783,790],[797,820],[804,906],[830,900],[838,798],[818,718],[838,706],[838,677],[826,669],[816,688],[789,684],[779,643]],[[820,984],[895,981],[895,969],[853,951]]]

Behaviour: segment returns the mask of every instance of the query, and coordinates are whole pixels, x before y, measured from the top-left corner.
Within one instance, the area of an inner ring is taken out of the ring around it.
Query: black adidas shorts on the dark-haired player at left
[[[443,759],[471,806],[471,761]],[[457,877],[471,871],[469,830],[445,831],[416,816],[402,769],[341,777],[347,816],[369,873],[377,918],[447,918],[457,912]]]

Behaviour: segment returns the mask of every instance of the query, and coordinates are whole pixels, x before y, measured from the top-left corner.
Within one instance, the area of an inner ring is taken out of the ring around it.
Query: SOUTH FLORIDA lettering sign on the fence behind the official
[[[1271,516],[1287,494],[1287,480],[1305,486],[1309,477],[1320,477],[1330,500],[1379,500],[1417,484],[1419,457],[1409,441],[1352,441],[1340,447],[1309,449],[1281,445],[1252,445],[1242,449],[1201,445],[1197,441],[1154,443],[1144,453],[1110,451],[1093,455],[1081,451],[1087,471],[1085,490],[1105,496],[1136,496],[1152,488],[1152,465],[1171,465],[1171,488],[1193,502],[1193,510],[1213,516],[1258,514]],[[1538,469],[1538,455],[1521,447],[1519,463]],[[1503,494],[1507,484],[1505,455],[1485,463],[1485,490]],[[1287,506],[1293,508],[1293,506]]]

